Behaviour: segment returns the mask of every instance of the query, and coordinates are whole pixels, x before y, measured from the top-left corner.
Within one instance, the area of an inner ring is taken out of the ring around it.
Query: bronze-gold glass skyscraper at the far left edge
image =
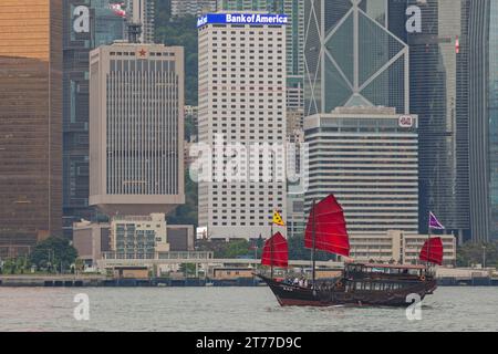
[[[0,257],[62,235],[62,0],[0,2]]]

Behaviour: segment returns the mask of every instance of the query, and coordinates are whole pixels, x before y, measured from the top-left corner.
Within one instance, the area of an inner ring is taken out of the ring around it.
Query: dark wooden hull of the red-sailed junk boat
[[[406,306],[414,300],[409,295],[416,294],[423,300],[437,288],[435,280],[414,282],[400,291],[352,291],[338,289],[307,289],[290,285],[259,275],[271,289],[281,306]]]

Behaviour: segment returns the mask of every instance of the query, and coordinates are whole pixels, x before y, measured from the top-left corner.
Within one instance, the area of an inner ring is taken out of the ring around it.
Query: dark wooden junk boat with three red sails
[[[350,241],[344,212],[334,196],[313,202],[305,229],[305,247],[312,252],[312,281],[300,287],[273,279],[273,267],[288,267],[288,243],[279,232],[264,243],[261,264],[271,267],[271,277],[258,274],[271,289],[282,306],[381,305],[406,306],[407,296],[417,294],[423,300],[437,288],[429,263],[442,264],[440,238],[429,238],[419,259],[427,266],[394,266],[375,263],[345,263],[334,282],[317,281],[315,252],[326,251],[350,256]]]

